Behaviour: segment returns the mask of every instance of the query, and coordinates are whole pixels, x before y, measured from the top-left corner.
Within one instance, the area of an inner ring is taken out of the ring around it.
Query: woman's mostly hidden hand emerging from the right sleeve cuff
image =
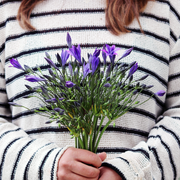
[[[122,178],[111,168],[103,166],[100,168],[99,180],[122,180]]]

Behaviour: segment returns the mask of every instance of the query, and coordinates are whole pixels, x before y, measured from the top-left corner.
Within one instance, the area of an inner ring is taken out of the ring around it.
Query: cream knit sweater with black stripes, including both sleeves
[[[55,180],[58,159],[74,145],[66,128],[46,125],[47,119],[8,101],[37,108],[29,94],[24,74],[10,68],[14,57],[23,65],[38,64],[46,71],[48,52],[66,48],[66,33],[73,44],[81,44],[84,57],[95,47],[115,44],[134,47],[125,63],[138,61],[137,77],[149,74],[145,84],[154,87],[141,94],[165,90],[116,121],[104,133],[98,152],[108,158],[122,179],[178,180],[180,177],[180,0],[149,2],[140,16],[144,34],[136,20],[130,33],[112,35],[105,27],[105,0],[45,0],[32,12],[35,31],[23,30],[16,21],[20,0],[0,0],[0,179]],[[32,85],[32,84],[31,84]]]

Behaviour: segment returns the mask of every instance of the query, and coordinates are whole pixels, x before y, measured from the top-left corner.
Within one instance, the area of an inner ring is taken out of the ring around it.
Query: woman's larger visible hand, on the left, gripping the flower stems
[[[95,154],[87,150],[68,148],[59,159],[58,180],[98,180],[106,153]],[[92,166],[91,166],[92,165]]]

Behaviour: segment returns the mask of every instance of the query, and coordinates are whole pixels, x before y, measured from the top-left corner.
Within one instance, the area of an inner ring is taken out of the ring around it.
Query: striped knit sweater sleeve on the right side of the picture
[[[157,118],[148,140],[103,163],[123,180],[180,178],[180,13],[170,4],[170,58],[166,110]]]

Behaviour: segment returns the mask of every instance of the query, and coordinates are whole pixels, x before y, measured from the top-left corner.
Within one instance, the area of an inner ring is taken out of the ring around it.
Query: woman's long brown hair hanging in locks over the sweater
[[[43,0],[22,0],[17,19],[22,28],[35,30],[30,23],[30,15],[33,8]],[[140,13],[145,9],[148,1],[153,0],[106,0],[106,26],[115,35],[121,32],[129,32],[128,26],[134,18],[139,21]],[[142,28],[141,28],[142,30]]]

